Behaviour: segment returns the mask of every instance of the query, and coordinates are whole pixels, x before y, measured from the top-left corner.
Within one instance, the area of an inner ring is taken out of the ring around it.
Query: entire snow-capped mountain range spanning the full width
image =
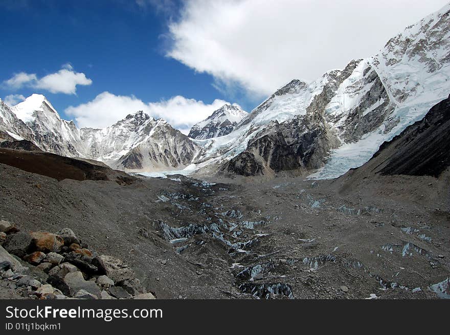
[[[375,56],[311,83],[292,80],[250,114],[223,106],[192,127],[192,140],[142,112],[104,129],[77,129],[40,95],[11,108],[0,101],[0,137],[130,171],[189,165],[187,173],[298,169],[331,178],[367,162],[448,93],[450,4],[391,38]]]

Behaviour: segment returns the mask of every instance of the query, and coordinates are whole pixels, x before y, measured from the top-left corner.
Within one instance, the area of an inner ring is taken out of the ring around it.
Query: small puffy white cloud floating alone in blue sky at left
[[[77,85],[92,84],[92,80],[87,78],[84,73],[73,71],[73,66],[70,63],[66,63],[62,67],[58,72],[42,78],[38,78],[36,74],[16,73],[10,79],[5,80],[3,85],[14,90],[27,86],[40,88],[51,93],[75,94]]]

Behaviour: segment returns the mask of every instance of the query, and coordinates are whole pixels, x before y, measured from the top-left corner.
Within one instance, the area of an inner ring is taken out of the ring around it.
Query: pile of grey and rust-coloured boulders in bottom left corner
[[[130,267],[89,250],[69,228],[25,232],[0,220],[0,277],[31,299],[155,299]]]

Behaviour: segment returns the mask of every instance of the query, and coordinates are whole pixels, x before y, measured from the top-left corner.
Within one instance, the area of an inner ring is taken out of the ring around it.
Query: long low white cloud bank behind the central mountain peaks
[[[174,128],[188,133],[195,123],[206,119],[216,109],[228,102],[216,99],[211,104],[195,99],[175,96],[169,100],[145,103],[134,96],[117,96],[109,92],[99,94],[94,100],[65,109],[65,114],[75,117],[79,127],[103,128],[143,110],[148,115],[163,118]]]

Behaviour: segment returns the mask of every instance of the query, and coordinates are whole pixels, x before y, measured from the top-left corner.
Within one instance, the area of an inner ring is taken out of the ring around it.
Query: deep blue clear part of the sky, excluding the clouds
[[[76,94],[53,94],[33,87],[3,85],[0,97],[45,95],[63,118],[69,105],[107,91],[150,102],[181,95],[211,103],[225,99],[209,74],[165,57],[167,13],[129,1],[14,1],[2,5],[0,80],[26,72],[42,77],[70,63],[92,79]]]

